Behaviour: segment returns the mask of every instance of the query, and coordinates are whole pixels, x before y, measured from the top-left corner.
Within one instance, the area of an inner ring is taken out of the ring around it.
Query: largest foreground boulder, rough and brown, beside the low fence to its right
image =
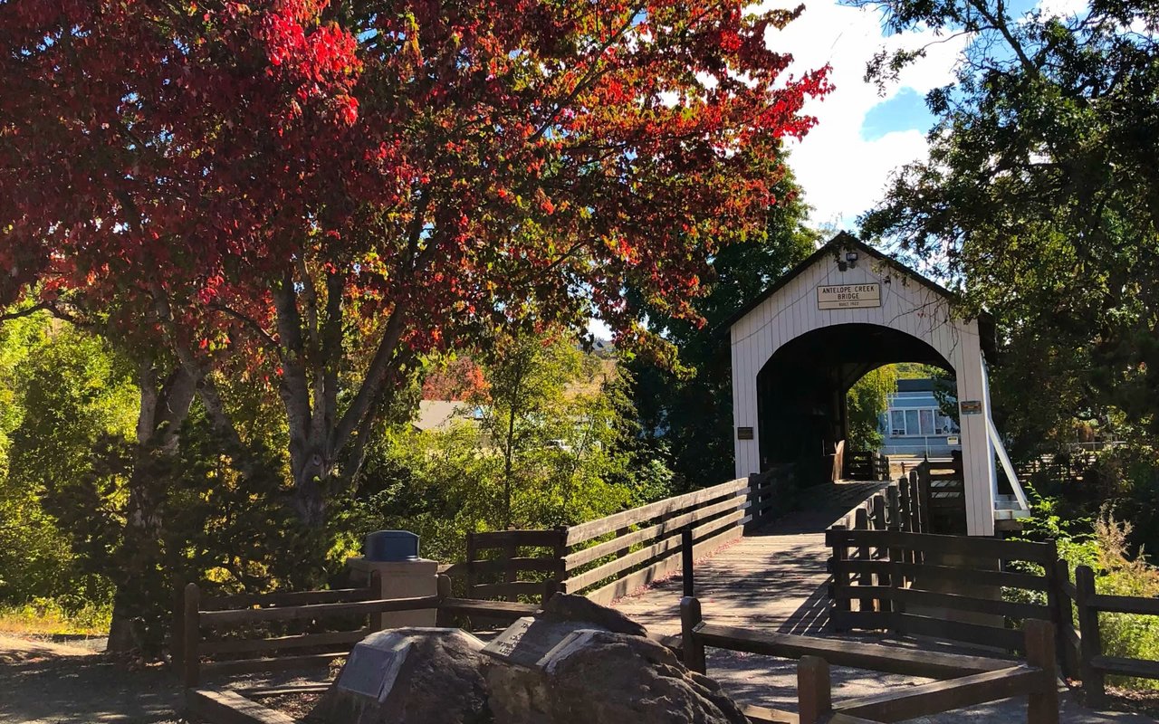
[[[489,659],[495,724],[749,724],[720,686],[639,635],[576,629],[535,666]]]

